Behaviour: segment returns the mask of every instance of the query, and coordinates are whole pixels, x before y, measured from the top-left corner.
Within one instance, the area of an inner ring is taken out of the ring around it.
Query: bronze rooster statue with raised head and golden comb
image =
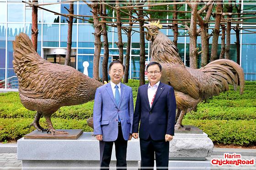
[[[220,59],[200,69],[186,67],[174,43],[160,32],[162,25],[159,21],[153,21],[144,27],[147,29],[146,39],[152,42],[151,61],[162,65],[161,81],[171,85],[175,90],[176,130],[181,127],[187,110],[196,107],[203,99],[229,90],[229,84],[234,85],[236,90],[239,82],[240,94],[243,93],[245,80],[240,65],[232,60]]]

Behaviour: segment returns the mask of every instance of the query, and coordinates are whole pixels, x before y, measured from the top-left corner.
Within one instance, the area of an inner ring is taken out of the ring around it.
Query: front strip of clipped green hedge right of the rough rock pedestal
[[[215,144],[256,145],[255,120],[189,120],[184,125],[195,125]]]

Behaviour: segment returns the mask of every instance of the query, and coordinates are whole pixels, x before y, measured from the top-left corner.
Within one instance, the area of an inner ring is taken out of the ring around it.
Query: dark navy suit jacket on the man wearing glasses
[[[147,140],[165,140],[165,134],[174,135],[176,100],[173,87],[159,84],[152,107],[149,106],[148,85],[138,89],[133,116],[133,133]],[[139,126],[140,121],[140,126]]]

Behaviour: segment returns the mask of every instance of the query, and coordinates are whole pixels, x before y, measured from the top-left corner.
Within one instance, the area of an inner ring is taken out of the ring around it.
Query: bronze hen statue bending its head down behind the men
[[[53,128],[51,115],[62,106],[80,105],[93,100],[96,89],[103,84],[70,66],[44,60],[24,33],[16,36],[13,50],[12,63],[19,81],[21,103],[28,110],[37,111],[31,125],[52,135],[68,134]],[[39,125],[42,115],[48,129]]]

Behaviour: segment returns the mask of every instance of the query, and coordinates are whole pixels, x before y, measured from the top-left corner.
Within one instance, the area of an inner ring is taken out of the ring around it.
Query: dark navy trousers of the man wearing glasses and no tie
[[[149,139],[147,140],[140,139],[139,145],[141,167],[143,170],[154,169],[154,158],[157,170],[159,167],[161,167],[161,170],[168,170],[170,142],[165,142],[165,140],[152,140],[149,136]]]

